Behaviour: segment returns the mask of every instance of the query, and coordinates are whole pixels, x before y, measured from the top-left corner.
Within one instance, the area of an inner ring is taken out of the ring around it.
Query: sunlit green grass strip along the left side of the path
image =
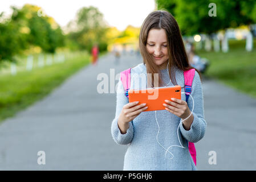
[[[15,76],[0,75],[0,122],[42,99],[88,64],[90,55],[83,53],[63,63],[17,72]]]

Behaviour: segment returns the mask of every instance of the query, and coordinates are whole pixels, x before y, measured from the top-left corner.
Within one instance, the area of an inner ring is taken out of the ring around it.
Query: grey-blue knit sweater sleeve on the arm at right
[[[204,96],[202,93],[202,85],[200,76],[197,71],[194,74],[193,82],[192,82],[192,92],[190,95],[194,99],[194,110],[193,116],[194,120],[189,130],[185,130],[183,125],[180,125],[180,131],[183,137],[189,142],[198,142],[205,135],[206,130],[206,122],[204,116]],[[188,99],[188,106],[190,111],[193,109],[193,101],[191,96]]]

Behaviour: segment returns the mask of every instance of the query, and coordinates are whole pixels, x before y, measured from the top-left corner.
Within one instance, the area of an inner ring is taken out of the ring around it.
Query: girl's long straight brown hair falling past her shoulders
[[[176,66],[177,68],[181,69],[182,71],[188,71],[193,67],[190,67],[188,56],[186,55],[185,46],[182,40],[182,36],[180,33],[180,28],[178,27],[178,23],[174,19],[173,15],[170,14],[168,11],[165,10],[157,10],[150,13],[147,18],[144,20],[141,29],[140,29],[140,38],[139,38],[139,47],[141,56],[143,57],[143,63],[147,66],[147,77],[148,80],[148,87],[151,85],[149,84],[150,75],[152,79],[152,86],[154,86],[154,74],[159,73],[159,85],[162,85],[161,79],[161,71],[158,65],[153,62],[153,56],[151,56],[147,49],[147,39],[148,39],[148,32],[151,29],[164,29],[166,38],[167,38],[167,47],[168,47],[168,56],[169,59],[169,76],[170,80],[172,81],[173,85],[177,85],[175,73],[172,72],[171,68]],[[196,69],[198,72],[198,70]],[[200,72],[198,72],[200,75]],[[200,75],[201,79],[201,75]]]

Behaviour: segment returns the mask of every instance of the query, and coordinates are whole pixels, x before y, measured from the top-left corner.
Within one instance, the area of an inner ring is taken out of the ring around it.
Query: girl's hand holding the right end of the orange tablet
[[[162,104],[165,106],[166,110],[177,115],[177,117],[180,117],[182,120],[189,117],[191,111],[186,101],[177,98],[171,98],[171,100],[172,101],[165,100],[166,103]]]

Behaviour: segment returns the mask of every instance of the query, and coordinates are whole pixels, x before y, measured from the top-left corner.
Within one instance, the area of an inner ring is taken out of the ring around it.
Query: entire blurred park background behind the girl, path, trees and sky
[[[110,131],[116,93],[99,93],[99,75],[115,86],[143,62],[140,27],[154,10],[177,20],[202,74],[198,169],[256,169],[253,0],[0,2],[0,169],[123,169],[127,146]]]

